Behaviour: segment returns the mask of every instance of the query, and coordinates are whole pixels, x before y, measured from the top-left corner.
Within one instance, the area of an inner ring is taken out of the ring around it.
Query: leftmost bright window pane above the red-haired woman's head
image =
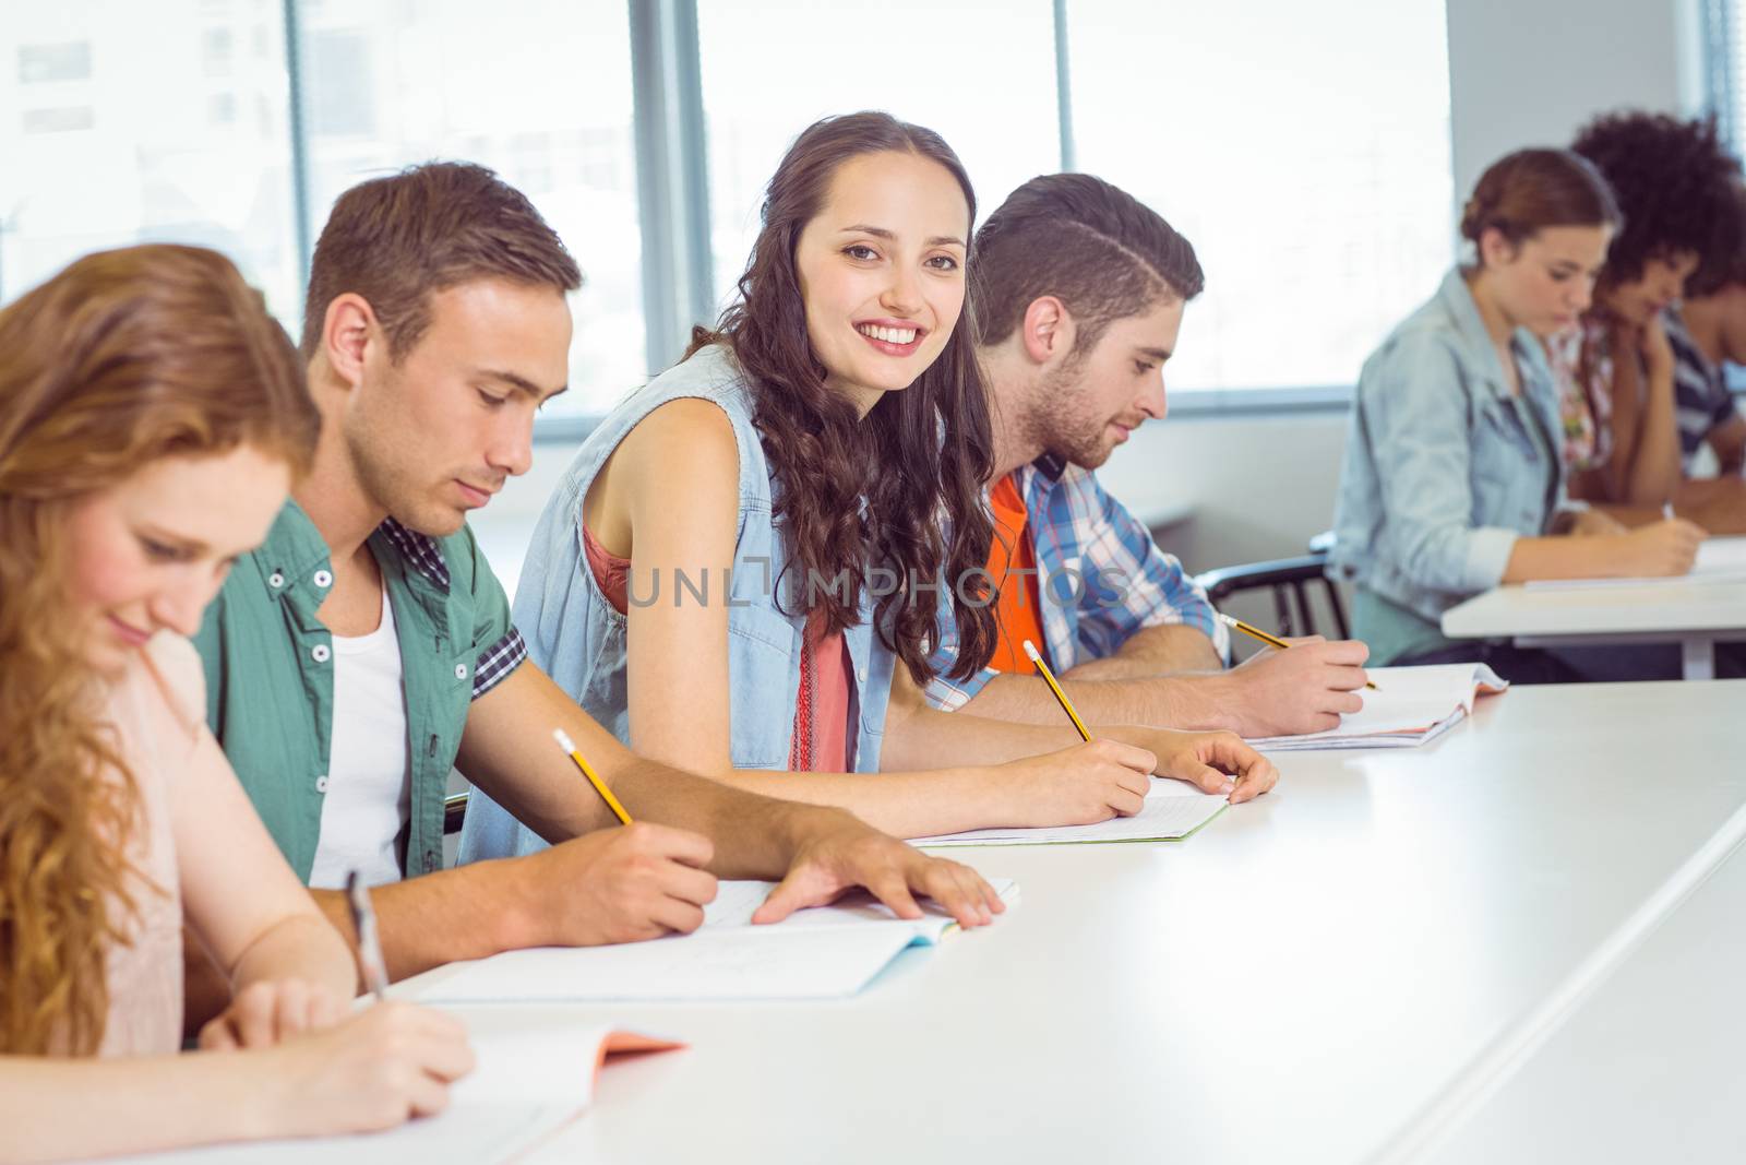
[[[272,0],[7,5],[0,302],[86,252],[197,243],[234,259],[290,321],[286,93]]]

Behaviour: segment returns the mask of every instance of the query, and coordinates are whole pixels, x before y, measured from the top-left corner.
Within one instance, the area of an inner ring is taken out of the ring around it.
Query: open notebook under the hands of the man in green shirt
[[[990,879],[1011,906],[1018,887]],[[908,922],[870,896],[753,926],[772,882],[721,882],[695,934],[620,947],[540,947],[459,962],[426,1003],[580,1003],[656,999],[835,999],[859,992],[911,945],[934,945],[955,922],[932,903]]]

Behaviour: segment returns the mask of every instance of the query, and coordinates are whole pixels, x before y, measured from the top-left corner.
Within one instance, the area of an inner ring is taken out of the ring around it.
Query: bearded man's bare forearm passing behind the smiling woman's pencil
[[[1234,728],[1219,699],[1222,676],[1154,676],[1149,679],[1062,679],[1062,690],[1086,723],[1151,725],[1156,728]],[[1062,721],[1062,706],[1037,676],[1002,674],[983,685],[959,709],[971,716],[1028,725]]]

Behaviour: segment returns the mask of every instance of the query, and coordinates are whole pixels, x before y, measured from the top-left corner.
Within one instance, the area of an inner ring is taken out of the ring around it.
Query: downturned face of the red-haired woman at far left
[[[250,445],[161,458],[73,505],[68,596],[87,660],[117,674],[159,631],[192,636],[237,555],[267,536],[292,472]]]

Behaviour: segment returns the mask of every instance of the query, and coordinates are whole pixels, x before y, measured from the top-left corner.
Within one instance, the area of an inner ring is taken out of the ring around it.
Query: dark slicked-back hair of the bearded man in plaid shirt
[[[1116,320],[1206,283],[1194,248],[1163,217],[1091,175],[1042,175],[1013,190],[976,232],[971,276],[981,292],[981,344],[999,344],[1042,295],[1077,325],[1090,351]]]

